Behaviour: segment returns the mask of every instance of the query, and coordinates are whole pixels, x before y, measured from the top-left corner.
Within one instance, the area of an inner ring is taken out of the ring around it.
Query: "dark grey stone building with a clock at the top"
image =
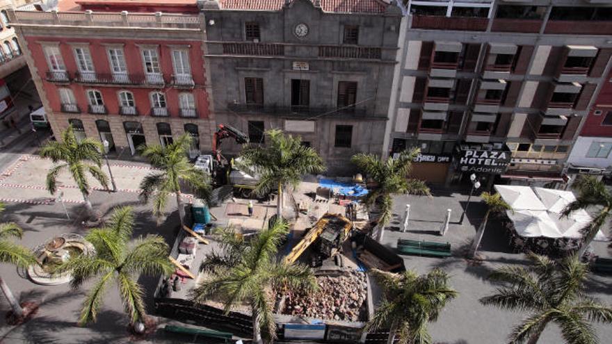
[[[217,124],[303,138],[329,174],[383,154],[401,10],[380,0],[200,1]],[[240,147],[224,142],[224,154]]]

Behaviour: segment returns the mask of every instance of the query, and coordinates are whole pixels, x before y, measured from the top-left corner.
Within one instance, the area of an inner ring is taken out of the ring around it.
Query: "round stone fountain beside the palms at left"
[[[55,286],[70,282],[72,275],[69,272],[52,275],[54,270],[70,257],[95,252],[93,245],[88,243],[79,234],[62,234],[34,249],[34,256],[38,264],[30,265],[28,276],[36,284]]]

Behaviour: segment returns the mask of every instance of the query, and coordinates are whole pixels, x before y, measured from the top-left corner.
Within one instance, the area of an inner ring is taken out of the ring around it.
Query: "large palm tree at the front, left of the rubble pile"
[[[192,290],[195,302],[205,302],[212,296],[220,297],[226,312],[237,304],[248,304],[252,314],[253,343],[263,343],[262,336],[269,339],[276,336],[272,313],[274,291],[296,288],[308,292],[317,287],[307,266],[276,261],[277,247],[288,229],[287,222],[277,220],[272,227],[252,239],[245,249],[235,250],[241,256],[232,265],[225,265],[225,268],[219,265],[211,278]]]

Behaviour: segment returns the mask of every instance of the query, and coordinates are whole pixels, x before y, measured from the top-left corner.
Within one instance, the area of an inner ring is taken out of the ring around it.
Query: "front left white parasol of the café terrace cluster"
[[[512,220],[515,231],[524,238],[546,237],[563,238],[561,231],[557,229],[556,223],[546,211],[512,211],[506,212]]]

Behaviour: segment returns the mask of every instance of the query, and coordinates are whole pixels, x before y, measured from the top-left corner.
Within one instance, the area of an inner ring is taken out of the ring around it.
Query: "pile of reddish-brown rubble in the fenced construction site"
[[[367,283],[363,272],[316,277],[319,291],[310,295],[289,292],[284,314],[309,318],[360,321],[367,314]]]

